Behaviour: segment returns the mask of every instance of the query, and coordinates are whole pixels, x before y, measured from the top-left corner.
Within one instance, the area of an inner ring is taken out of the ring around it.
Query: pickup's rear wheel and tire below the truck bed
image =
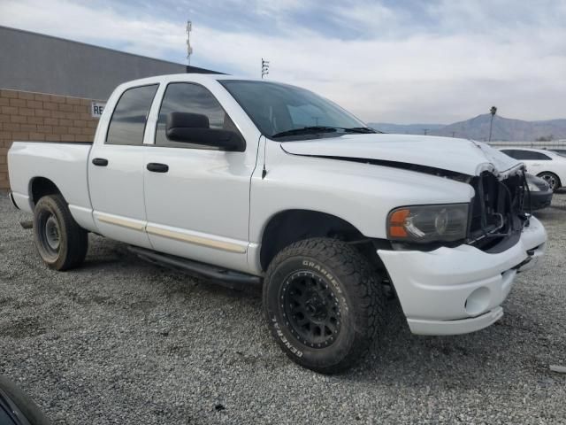
[[[35,205],[34,242],[43,262],[55,270],[78,267],[87,256],[88,233],[61,195],[42,197]]]

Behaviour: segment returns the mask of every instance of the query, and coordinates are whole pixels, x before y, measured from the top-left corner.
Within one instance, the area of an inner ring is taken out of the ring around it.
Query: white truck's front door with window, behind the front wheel
[[[208,89],[195,83],[168,84],[155,145],[146,148],[143,170],[149,241],[156,251],[246,270],[256,152],[172,142],[165,134],[169,112],[200,113],[208,117],[210,128],[238,131]]]

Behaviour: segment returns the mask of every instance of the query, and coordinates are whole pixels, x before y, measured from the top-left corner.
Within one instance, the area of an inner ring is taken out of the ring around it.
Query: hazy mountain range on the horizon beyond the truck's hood
[[[488,140],[491,114],[478,115],[453,124],[390,124],[371,122],[368,125],[385,133],[407,135],[444,135],[479,141]],[[542,139],[541,139],[542,138]],[[524,121],[493,116],[492,141],[529,142],[566,139],[566,120]]]

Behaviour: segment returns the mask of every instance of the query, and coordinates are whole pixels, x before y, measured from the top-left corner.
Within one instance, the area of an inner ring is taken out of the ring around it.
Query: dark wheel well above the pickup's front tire
[[[332,237],[345,242],[360,242],[356,243],[356,247],[371,264],[378,268],[383,267],[374,249],[376,241],[363,236],[348,221],[317,211],[287,210],[274,215],[265,227],[259,256],[262,269],[267,270],[272,259],[287,245],[310,237]]]

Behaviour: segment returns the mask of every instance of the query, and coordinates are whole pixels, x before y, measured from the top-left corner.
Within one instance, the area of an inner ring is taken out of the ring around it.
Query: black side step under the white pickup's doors
[[[137,246],[129,246],[128,249],[129,251],[134,252],[134,254],[141,259],[145,259],[150,263],[180,270],[198,277],[205,277],[237,286],[261,285],[262,283],[262,278],[254,276],[253,274],[227,270],[226,268],[200,263],[191,259],[183,259],[174,255],[162,254],[160,252],[146,250],[145,248]]]

